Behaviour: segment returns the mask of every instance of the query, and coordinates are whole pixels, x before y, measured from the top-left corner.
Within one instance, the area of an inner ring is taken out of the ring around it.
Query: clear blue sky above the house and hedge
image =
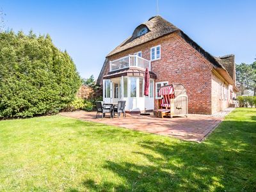
[[[106,54],[141,22],[156,15],[156,0],[0,0],[6,26],[51,35],[67,50],[82,77],[97,78]],[[214,56],[236,54],[236,63],[256,58],[256,1],[159,0],[159,15]]]

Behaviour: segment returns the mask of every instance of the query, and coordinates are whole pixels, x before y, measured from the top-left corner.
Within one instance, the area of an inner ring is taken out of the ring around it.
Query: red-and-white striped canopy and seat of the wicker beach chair
[[[170,84],[170,85],[161,87],[159,90],[159,95],[163,97],[161,99],[161,106],[170,108],[170,99],[173,99],[175,97],[173,85]]]

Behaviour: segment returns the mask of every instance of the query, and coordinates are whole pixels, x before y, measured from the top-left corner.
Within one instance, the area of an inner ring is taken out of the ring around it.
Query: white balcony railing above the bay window
[[[148,70],[151,70],[151,63],[150,61],[136,55],[129,55],[123,58],[119,58],[118,60],[109,61],[110,72],[129,67],[139,67],[143,69],[148,67]]]

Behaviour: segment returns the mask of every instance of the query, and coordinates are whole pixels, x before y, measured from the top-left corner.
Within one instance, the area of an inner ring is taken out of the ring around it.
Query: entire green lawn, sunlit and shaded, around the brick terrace
[[[256,191],[256,109],[203,143],[62,116],[0,122],[0,191]]]

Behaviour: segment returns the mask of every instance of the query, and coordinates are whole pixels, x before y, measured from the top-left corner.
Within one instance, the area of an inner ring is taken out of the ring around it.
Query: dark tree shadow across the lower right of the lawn
[[[133,154],[150,164],[106,161],[104,168],[125,182],[83,185],[93,191],[255,191],[255,127],[225,121],[204,143],[141,141],[146,150]]]

